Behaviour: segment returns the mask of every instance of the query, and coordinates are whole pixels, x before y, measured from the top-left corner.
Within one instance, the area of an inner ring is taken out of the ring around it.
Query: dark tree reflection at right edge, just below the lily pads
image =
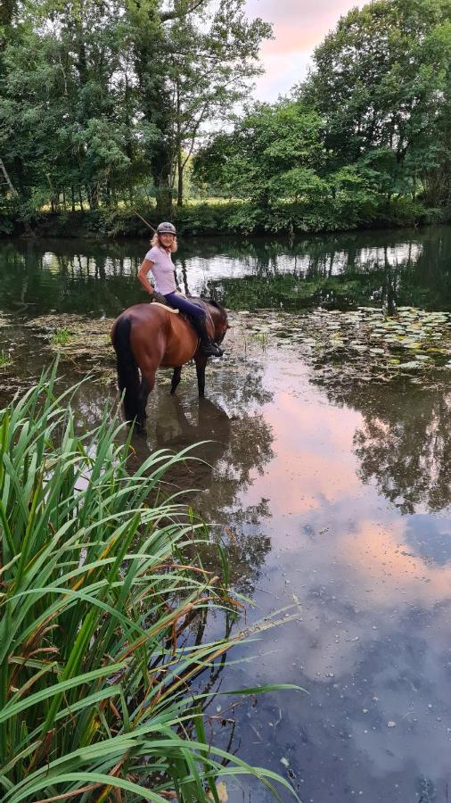
[[[327,384],[334,402],[362,413],[354,435],[359,475],[403,513],[419,505],[437,511],[451,502],[451,392],[446,388],[389,385],[383,388]]]

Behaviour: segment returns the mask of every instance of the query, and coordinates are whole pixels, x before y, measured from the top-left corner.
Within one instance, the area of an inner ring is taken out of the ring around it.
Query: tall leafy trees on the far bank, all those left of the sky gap
[[[115,209],[148,186],[170,203],[176,165],[182,182],[196,137],[242,99],[270,35],[244,0],[213,5],[41,0],[10,14],[0,154],[26,216]]]

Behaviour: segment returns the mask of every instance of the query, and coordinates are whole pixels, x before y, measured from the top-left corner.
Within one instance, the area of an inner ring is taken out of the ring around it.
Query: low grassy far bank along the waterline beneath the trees
[[[154,207],[137,206],[145,219],[157,225]],[[376,199],[371,203],[335,199],[323,203],[279,203],[261,209],[245,201],[205,201],[174,207],[171,219],[183,236],[296,234],[347,231],[367,228],[398,228],[444,223],[451,209],[430,209],[420,199]],[[134,210],[101,208],[75,212],[37,213],[30,219],[37,236],[142,236],[145,229]],[[23,223],[0,215],[0,236],[20,235]]]

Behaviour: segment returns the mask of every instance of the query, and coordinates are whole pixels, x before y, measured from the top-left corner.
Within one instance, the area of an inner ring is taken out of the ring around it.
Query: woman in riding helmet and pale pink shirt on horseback
[[[147,293],[163,295],[162,301],[166,301],[175,310],[189,315],[193,328],[201,340],[202,351],[208,357],[222,357],[222,350],[207,332],[204,310],[197,304],[188,301],[184,295],[176,293],[176,277],[171,260],[171,253],[175,253],[176,250],[176,228],[172,223],[160,223],[156,234],[152,237],[152,248],[146,253],[141,268],[138,270],[138,279]],[[149,271],[152,271],[155,278],[154,288],[148,278]]]

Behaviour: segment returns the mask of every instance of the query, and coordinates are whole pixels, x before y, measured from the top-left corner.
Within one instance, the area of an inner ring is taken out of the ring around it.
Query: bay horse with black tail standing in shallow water
[[[220,344],[228,328],[227,313],[214,301],[190,297],[207,316],[210,337]],[[119,393],[124,393],[127,421],[143,426],[149,393],[155,385],[157,368],[174,368],[171,393],[176,392],[182,367],[196,364],[199,395],[205,393],[205,366],[209,359],[201,350],[199,337],[188,319],[162,304],[135,304],[119,315],[111,328],[111,342],[117,357]]]

